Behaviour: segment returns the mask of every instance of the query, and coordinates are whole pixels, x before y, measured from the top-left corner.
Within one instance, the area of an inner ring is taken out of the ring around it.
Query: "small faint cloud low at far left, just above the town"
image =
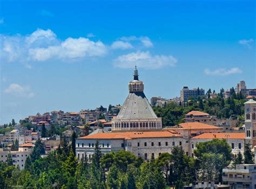
[[[30,87],[22,86],[16,83],[10,84],[8,88],[4,90],[4,92],[14,96],[22,96],[28,98],[35,96],[35,93],[31,92]]]

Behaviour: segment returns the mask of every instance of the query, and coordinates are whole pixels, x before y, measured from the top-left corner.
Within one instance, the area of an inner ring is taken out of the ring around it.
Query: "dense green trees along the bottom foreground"
[[[37,140],[24,170],[15,167],[9,156],[6,163],[0,163],[0,188],[183,188],[196,181],[218,183],[222,168],[232,160],[231,147],[218,139],[198,143],[197,158],[186,156],[182,147],[175,146],[171,154],[147,161],[124,150],[103,154],[97,142],[90,164],[86,155],[78,161],[73,144],[64,141],[42,158],[44,145]]]

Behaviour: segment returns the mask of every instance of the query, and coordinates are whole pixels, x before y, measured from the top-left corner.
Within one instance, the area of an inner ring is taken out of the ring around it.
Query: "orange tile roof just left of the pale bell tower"
[[[245,133],[203,133],[192,139],[245,139]]]

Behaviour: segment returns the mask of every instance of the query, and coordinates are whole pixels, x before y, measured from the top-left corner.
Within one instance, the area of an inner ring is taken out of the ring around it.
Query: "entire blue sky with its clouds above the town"
[[[255,1],[1,1],[0,123],[255,78]]]

